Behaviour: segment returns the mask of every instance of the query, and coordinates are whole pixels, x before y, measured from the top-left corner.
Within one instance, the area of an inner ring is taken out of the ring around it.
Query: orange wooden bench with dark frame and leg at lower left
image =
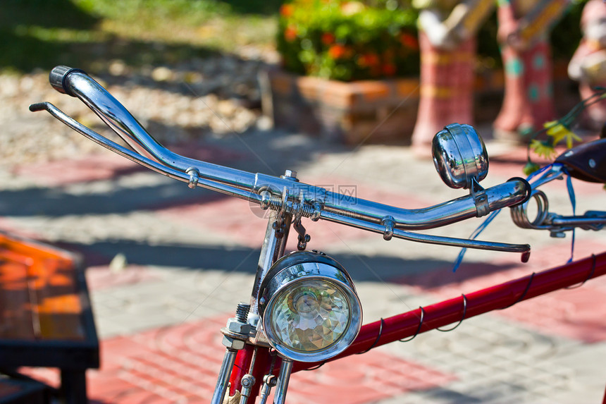
[[[61,369],[61,396],[86,403],[99,340],[80,259],[0,232],[0,371]]]

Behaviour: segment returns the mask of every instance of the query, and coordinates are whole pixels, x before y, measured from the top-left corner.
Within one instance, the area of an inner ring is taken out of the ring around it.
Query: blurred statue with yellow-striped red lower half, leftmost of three
[[[494,0],[412,0],[419,8],[421,90],[412,149],[431,157],[433,135],[450,123],[473,124],[476,32]]]

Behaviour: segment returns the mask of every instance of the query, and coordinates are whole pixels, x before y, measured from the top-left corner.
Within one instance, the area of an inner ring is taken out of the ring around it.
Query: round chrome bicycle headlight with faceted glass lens
[[[259,289],[259,313],[273,348],[301,362],[338,355],[352,344],[362,322],[345,269],[322,253],[307,251],[273,264]]]

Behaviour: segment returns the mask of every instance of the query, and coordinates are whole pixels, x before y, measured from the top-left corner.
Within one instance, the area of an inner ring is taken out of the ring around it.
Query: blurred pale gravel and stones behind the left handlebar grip
[[[271,56],[270,56],[271,59]],[[261,115],[257,74],[267,65],[266,55],[211,56],[178,66],[132,69],[109,61],[94,75],[165,145],[249,128],[267,129]],[[275,59],[274,59],[275,60]],[[48,82],[48,72],[0,75],[0,165],[75,157],[99,147],[61,125],[49,114],[32,114],[28,106],[48,101],[81,123],[108,134],[92,111],[72,97],[59,94]]]

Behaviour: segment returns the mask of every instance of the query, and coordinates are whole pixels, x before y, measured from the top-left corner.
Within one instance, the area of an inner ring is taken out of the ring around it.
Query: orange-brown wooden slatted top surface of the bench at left
[[[0,234],[0,338],[83,341],[75,263],[44,247]]]

